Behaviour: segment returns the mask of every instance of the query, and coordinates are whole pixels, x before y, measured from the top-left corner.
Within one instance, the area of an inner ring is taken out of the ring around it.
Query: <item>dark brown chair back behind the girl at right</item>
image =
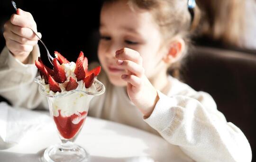
[[[190,51],[183,81],[210,93],[228,122],[256,147],[256,52],[196,46]]]

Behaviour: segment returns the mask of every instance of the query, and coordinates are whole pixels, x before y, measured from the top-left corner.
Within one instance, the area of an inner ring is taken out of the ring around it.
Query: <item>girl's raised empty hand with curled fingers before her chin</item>
[[[130,100],[145,117],[149,117],[159,97],[157,91],[144,74],[142,57],[135,50],[122,48],[116,51],[116,58],[118,59],[118,66],[128,71],[121,78],[128,82],[127,93]]]

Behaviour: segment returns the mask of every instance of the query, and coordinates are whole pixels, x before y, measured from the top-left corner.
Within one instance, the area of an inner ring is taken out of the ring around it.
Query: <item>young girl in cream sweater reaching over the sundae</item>
[[[98,48],[104,71],[98,79],[106,92],[91,101],[89,115],[161,135],[194,161],[249,162],[245,135],[210,95],[167,74],[186,53],[192,23],[188,0],[105,1]],[[39,50],[28,27],[37,29],[21,9],[5,24],[0,95],[16,106],[47,108],[33,82]]]

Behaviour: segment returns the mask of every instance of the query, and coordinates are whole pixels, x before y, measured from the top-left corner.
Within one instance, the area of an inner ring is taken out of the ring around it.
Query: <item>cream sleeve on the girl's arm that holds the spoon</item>
[[[0,95],[13,106],[37,108],[43,100],[34,82],[37,67],[34,61],[40,55],[38,45],[30,54],[29,63],[23,64],[10,54],[5,46],[0,54]]]

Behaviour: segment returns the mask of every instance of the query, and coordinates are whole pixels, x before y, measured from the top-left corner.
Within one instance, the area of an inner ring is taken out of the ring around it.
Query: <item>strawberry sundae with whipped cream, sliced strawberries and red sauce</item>
[[[82,52],[74,63],[56,51],[53,70],[47,67],[40,57],[35,64],[40,72],[45,92],[53,96],[50,99],[50,112],[58,132],[64,139],[72,139],[81,129],[93,97],[82,91],[96,92],[93,81],[100,73],[101,66],[89,71],[88,59]],[[54,97],[72,90],[75,92],[64,97]]]

